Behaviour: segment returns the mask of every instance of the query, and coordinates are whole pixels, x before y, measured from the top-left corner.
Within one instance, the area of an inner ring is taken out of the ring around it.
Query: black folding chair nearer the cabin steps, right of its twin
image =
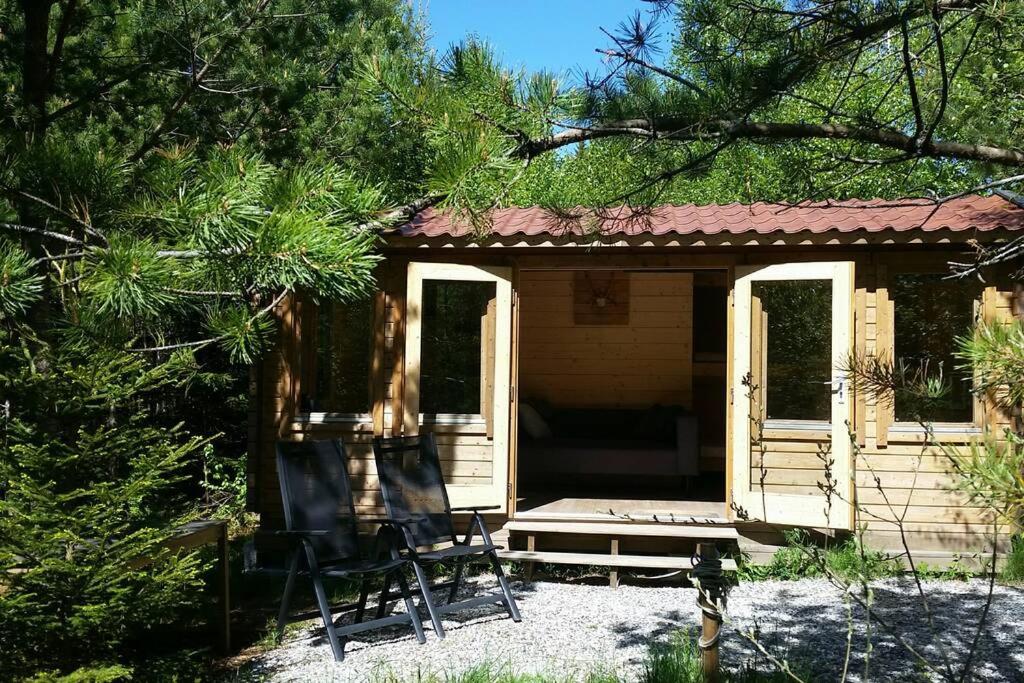
[[[453,508],[449,503],[444,476],[437,457],[437,443],[433,434],[374,439],[374,458],[377,461],[377,476],[384,508],[391,527],[400,533],[404,546],[401,557],[409,558],[419,582],[423,602],[430,613],[430,621],[438,638],[444,637],[441,614],[477,607],[485,604],[502,604],[512,621],[519,622],[519,608],[509,589],[508,580],[498,560],[499,546],[490,540],[490,533],[480,514],[484,510],[495,510],[499,506]],[[472,512],[466,536],[460,541],[455,535],[453,512]],[[473,544],[473,536],[479,531],[482,543]],[[452,545],[439,550],[438,544]],[[421,548],[430,548],[421,551]],[[398,557],[399,555],[395,555]],[[455,602],[462,581],[463,567],[470,562],[487,560],[494,569],[501,592]],[[434,600],[425,567],[433,564],[455,564],[455,578],[449,593],[447,603],[438,605]],[[385,588],[385,590],[387,590]],[[382,598],[383,600],[383,598]],[[381,611],[378,610],[378,615]]]

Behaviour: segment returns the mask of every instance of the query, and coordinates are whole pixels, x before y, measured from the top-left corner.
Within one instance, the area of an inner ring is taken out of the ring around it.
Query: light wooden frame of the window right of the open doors
[[[896,358],[896,300],[893,297],[893,286],[896,283],[896,278],[899,275],[941,275],[948,274],[948,270],[941,265],[888,265],[885,267],[882,276],[879,279],[881,282],[878,283],[876,288],[876,297],[879,297],[879,292],[884,290],[885,302],[884,305],[888,307],[889,315],[886,319],[887,329],[885,330],[885,348],[877,348],[877,353],[881,353],[883,356],[888,356],[892,358],[895,362]],[[981,292],[974,299],[974,311],[973,319],[978,323],[984,318],[985,314],[985,288],[981,289]],[[878,307],[880,303],[876,302]],[[879,315],[876,314],[876,325],[879,324]],[[876,331],[876,344],[878,343],[878,332]],[[972,386],[972,417],[971,420],[964,422],[932,422],[930,423],[931,431],[938,437],[943,436],[957,436],[963,435],[965,437],[972,437],[981,434],[984,431],[985,425],[985,405],[984,401],[975,392],[977,388],[977,377],[973,379]],[[923,428],[916,422],[908,421],[897,421],[896,420],[896,403],[894,400],[888,401],[885,405],[877,405],[876,410],[883,410],[887,413],[887,426],[886,434],[890,441],[899,442],[900,440],[909,439],[916,441],[926,433],[925,428]],[[940,438],[941,440],[941,438]]]

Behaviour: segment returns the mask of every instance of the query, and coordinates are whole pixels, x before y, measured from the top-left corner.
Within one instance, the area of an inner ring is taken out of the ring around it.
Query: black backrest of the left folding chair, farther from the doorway
[[[345,460],[341,440],[278,441],[278,479],[286,528],[330,531],[309,539],[321,563],[359,556]]]

